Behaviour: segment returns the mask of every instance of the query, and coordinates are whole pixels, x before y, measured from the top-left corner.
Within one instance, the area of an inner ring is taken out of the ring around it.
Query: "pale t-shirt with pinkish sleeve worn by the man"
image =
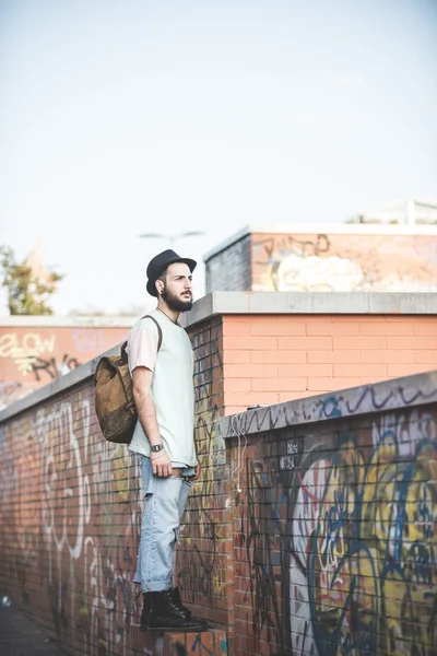
[[[172,462],[197,465],[194,448],[194,387],[192,349],[187,332],[162,312],[151,313],[163,331],[160,352],[158,331],[152,319],[140,319],[128,336],[129,368],[145,366],[153,372],[151,394],[156,408],[161,436]],[[150,444],[140,421],[129,448],[150,456]]]

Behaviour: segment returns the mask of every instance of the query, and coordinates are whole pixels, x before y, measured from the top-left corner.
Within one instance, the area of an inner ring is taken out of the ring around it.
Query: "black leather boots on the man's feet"
[[[140,631],[204,631],[204,620],[187,617],[186,611],[175,604],[173,589],[144,593],[143,596]]]

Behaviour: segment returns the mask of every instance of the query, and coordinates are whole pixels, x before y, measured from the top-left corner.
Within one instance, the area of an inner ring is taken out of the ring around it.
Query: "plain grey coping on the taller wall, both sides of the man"
[[[437,294],[433,293],[341,293],[341,292],[213,292],[197,301],[191,312],[181,315],[189,328],[215,315],[277,314],[428,314],[437,315]],[[132,325],[138,317],[131,319]],[[106,352],[115,355],[119,347]],[[40,387],[24,399],[0,411],[0,423],[56,396],[94,375],[101,355]]]

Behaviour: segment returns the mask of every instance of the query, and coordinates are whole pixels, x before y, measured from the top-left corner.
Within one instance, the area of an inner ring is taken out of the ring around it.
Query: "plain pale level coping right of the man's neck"
[[[437,315],[436,293],[212,292],[181,316],[184,327],[214,315],[346,314]]]

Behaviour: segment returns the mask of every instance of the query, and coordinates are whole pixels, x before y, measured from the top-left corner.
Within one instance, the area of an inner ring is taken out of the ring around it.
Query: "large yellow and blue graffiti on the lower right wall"
[[[336,633],[336,656],[345,648],[362,654],[352,614],[359,618],[361,634],[374,636],[378,654],[400,656],[414,644],[421,656],[432,656],[436,445],[424,441],[406,464],[390,431],[367,462],[353,446],[346,442],[339,450],[320,504],[311,566],[317,623],[326,635]],[[347,610],[352,607],[354,613]]]

